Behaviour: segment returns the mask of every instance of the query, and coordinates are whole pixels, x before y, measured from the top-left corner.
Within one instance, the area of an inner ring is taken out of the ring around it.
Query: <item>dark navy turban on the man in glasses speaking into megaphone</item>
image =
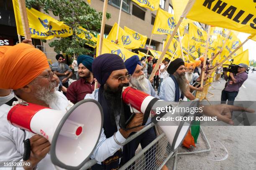
[[[115,70],[125,69],[122,58],[116,54],[102,54],[92,62],[92,72],[94,77],[104,85],[110,74]]]

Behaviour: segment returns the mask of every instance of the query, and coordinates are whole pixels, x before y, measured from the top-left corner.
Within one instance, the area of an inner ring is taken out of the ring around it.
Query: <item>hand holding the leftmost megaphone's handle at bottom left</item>
[[[36,165],[44,159],[47,153],[50,151],[51,144],[49,141],[40,136],[40,135],[34,135],[30,138],[31,143],[31,155],[30,158],[26,161],[30,163],[30,167],[24,166],[23,168],[25,170],[33,170],[33,168],[36,167]]]

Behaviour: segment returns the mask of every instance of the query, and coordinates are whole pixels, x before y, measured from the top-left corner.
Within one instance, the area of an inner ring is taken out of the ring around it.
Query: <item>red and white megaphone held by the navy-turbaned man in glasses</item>
[[[155,107],[157,101],[163,101],[133,87],[123,87],[122,99],[126,104],[129,104],[136,110],[142,112],[144,114],[144,119],[148,118],[152,108]],[[190,105],[190,107],[196,107],[195,105],[197,104],[198,103],[195,101],[192,103],[193,106]],[[162,118],[167,118],[171,114],[172,113],[168,112],[163,115]],[[173,152],[175,152],[182,144],[191,123],[192,121],[181,121],[179,122],[179,125],[159,125],[169,140],[169,143],[172,145]]]

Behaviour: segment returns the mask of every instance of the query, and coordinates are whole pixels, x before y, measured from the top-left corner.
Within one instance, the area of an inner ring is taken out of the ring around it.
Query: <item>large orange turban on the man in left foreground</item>
[[[28,85],[46,68],[46,55],[32,45],[0,47],[0,88],[17,90]]]

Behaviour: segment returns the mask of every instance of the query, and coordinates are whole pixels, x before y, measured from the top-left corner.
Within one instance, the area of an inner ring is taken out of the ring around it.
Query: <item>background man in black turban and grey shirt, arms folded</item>
[[[67,64],[63,62],[64,56],[62,54],[56,55],[56,60],[58,62],[54,62],[52,64],[53,67],[58,67],[57,71],[54,72],[59,77],[59,80],[61,81],[62,85],[66,88],[69,87],[69,78],[72,77],[73,72],[69,68]],[[59,90],[60,91],[60,90]],[[66,95],[66,92],[63,92],[64,95]]]

